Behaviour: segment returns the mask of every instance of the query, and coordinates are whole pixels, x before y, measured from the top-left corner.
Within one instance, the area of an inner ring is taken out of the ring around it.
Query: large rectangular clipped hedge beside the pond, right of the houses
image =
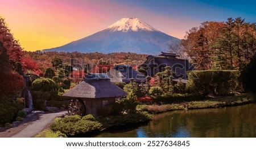
[[[239,84],[238,71],[191,71],[186,85],[188,92],[226,96],[236,91]]]

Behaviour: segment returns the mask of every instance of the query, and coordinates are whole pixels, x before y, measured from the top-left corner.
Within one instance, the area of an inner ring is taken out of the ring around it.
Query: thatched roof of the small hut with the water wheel
[[[72,98],[108,98],[127,96],[127,93],[105,78],[106,74],[89,73],[84,81],[63,96]]]

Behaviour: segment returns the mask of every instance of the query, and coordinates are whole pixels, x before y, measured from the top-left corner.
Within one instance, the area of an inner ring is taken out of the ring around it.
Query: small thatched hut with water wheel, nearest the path
[[[115,102],[115,98],[127,96],[127,93],[117,85],[110,82],[110,78],[105,73],[88,73],[84,81],[76,85],[63,95],[72,99],[77,99],[75,102],[81,102],[80,108],[85,107],[86,110],[81,111],[82,114],[98,114],[98,109]],[[71,113],[77,111],[77,105],[69,104]],[[79,109],[80,110],[80,109]],[[73,111],[73,112],[72,112]],[[76,113],[74,113],[76,114]]]

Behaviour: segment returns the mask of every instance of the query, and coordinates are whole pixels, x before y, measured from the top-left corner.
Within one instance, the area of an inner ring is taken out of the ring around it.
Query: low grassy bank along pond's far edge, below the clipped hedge
[[[255,102],[253,94],[237,94],[235,96],[225,96],[218,98],[205,98],[201,101],[180,102],[179,104],[158,104],[158,105],[138,105],[138,111],[148,111],[149,113],[162,113],[171,110],[204,109],[226,106],[236,106]]]

